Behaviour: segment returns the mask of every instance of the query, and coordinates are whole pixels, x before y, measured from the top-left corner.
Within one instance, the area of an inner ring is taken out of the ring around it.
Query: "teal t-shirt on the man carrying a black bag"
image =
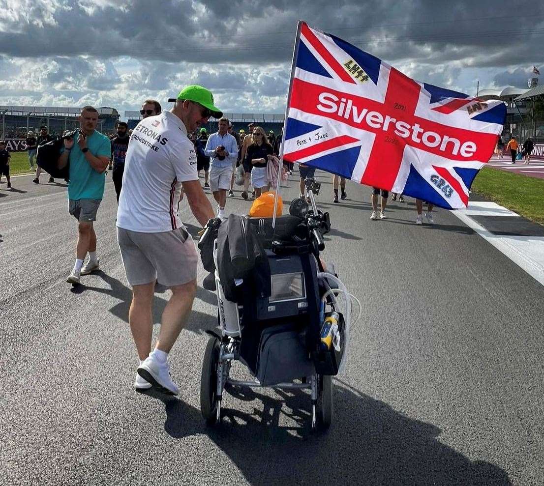
[[[85,159],[85,154],[77,145],[79,133],[74,137],[74,144],[70,151],[70,182],[68,183],[68,197],[70,199],[102,199],[106,173],[99,174]],[[96,130],[87,137],[87,147],[92,155],[110,157],[112,144],[108,137]]]

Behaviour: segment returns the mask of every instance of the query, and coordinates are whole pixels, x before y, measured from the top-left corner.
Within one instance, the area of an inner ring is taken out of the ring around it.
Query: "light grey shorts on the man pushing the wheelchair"
[[[162,233],[140,233],[117,228],[121,259],[130,285],[158,281],[167,287],[196,278],[198,255],[185,228]]]

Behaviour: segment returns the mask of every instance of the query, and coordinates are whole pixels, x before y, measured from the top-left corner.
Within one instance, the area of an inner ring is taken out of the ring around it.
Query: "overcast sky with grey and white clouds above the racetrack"
[[[283,113],[299,19],[471,95],[544,76],[540,0],[0,0],[0,104],[123,115],[202,84],[226,113]]]

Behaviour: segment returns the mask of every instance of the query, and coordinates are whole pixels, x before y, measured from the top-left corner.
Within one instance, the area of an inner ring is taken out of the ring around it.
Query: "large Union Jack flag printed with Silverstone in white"
[[[419,83],[299,22],[283,160],[466,208],[503,130],[506,105]]]

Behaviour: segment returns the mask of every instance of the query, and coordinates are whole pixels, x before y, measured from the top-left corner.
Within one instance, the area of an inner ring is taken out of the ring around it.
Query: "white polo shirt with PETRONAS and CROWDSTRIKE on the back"
[[[195,147],[183,122],[166,110],[141,120],[128,142],[117,226],[141,233],[181,227],[181,183],[198,178]]]

